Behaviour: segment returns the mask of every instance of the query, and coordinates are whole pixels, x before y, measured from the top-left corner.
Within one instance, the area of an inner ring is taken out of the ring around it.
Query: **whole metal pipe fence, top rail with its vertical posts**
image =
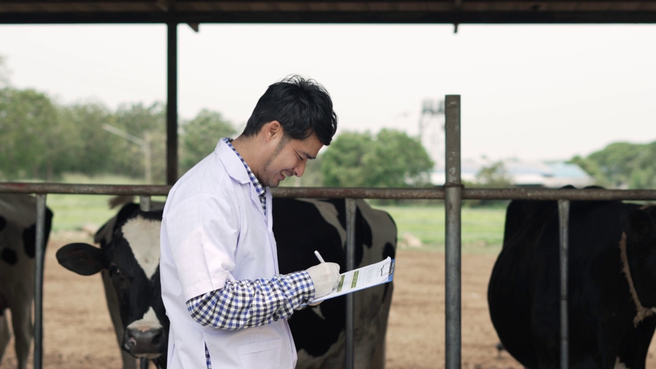
[[[457,181],[459,183],[459,181]],[[453,183],[453,182],[452,182]],[[283,187],[272,188],[272,193],[280,198],[345,198],[347,204],[353,202],[349,199],[369,198],[369,199],[428,199],[428,200],[445,200],[446,194],[450,190],[461,192],[461,200],[480,199],[480,200],[559,200],[559,203],[569,200],[656,200],[656,190],[606,190],[603,188],[588,188],[586,190],[576,189],[548,189],[548,188],[461,188],[460,186],[450,187],[449,185],[430,188],[314,188],[314,187]],[[47,194],[98,194],[98,195],[129,195],[140,196],[140,202],[150,202],[150,196],[165,196],[169,193],[171,186],[162,185],[72,185],[61,183],[0,183],[0,193],[18,193],[18,194],[37,194],[37,211],[45,213],[45,203]],[[451,200],[453,201],[453,200]],[[447,201],[448,202],[448,201]],[[449,258],[445,259],[446,284],[449,290],[449,301],[447,302],[447,368],[455,369],[460,367],[461,363],[461,316],[460,316],[460,204],[455,200],[453,206],[445,207],[447,212],[447,224],[445,230],[447,239],[452,240],[453,244],[449,247]],[[354,202],[353,202],[354,203]],[[563,204],[564,205],[564,204]],[[568,206],[568,205],[567,205]],[[348,208],[348,206],[347,206]],[[561,274],[562,279],[567,279],[567,209],[560,211],[561,217]],[[353,249],[350,235],[354,223],[352,220],[347,221],[346,232],[349,248]],[[36,248],[36,267],[35,267],[35,345],[34,345],[34,368],[41,369],[43,358],[43,253],[45,240],[44,227],[41,223],[43,217],[37,219],[37,248]],[[347,248],[347,255],[349,250]],[[351,269],[353,266],[351,266]],[[567,311],[567,291],[562,291],[562,311]],[[450,307],[450,308],[449,308]],[[354,306],[347,300],[347,364],[346,368],[353,368],[353,316]],[[567,353],[567,316],[564,315],[561,326],[562,330],[562,352]],[[349,347],[350,346],[350,347]],[[562,358],[562,365],[567,366],[566,357]]]

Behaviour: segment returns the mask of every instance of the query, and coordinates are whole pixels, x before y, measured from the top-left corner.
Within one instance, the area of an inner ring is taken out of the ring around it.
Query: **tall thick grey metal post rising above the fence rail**
[[[460,95],[446,96],[446,368],[461,368],[461,148]]]

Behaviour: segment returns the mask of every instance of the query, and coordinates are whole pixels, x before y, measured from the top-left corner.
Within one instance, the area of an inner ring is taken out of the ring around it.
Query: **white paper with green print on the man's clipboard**
[[[379,263],[367,265],[340,274],[340,282],[331,293],[310,301],[310,303],[317,303],[319,301],[332,299],[333,297],[346,295],[346,293],[356,292],[378,286],[387,282],[392,282],[394,279],[394,259],[389,256],[380,261]]]

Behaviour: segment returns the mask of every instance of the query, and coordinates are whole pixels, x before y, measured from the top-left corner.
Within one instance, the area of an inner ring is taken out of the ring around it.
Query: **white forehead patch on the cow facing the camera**
[[[151,278],[159,265],[159,228],[161,221],[144,219],[141,215],[123,225],[123,237],[130,244],[134,258]]]

